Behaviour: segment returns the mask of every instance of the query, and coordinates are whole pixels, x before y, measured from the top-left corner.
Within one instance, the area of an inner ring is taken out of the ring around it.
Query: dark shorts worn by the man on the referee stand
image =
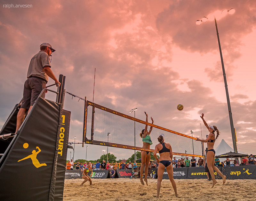
[[[34,105],[37,97],[45,88],[46,81],[44,79],[37,77],[29,77],[24,84],[21,108],[29,109],[30,106]],[[41,97],[45,97],[45,92],[42,94]]]

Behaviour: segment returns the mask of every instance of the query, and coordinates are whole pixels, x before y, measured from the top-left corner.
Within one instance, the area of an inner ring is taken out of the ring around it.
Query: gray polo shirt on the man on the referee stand
[[[27,78],[30,76],[37,76],[46,80],[47,83],[48,75],[43,72],[45,66],[49,66],[51,68],[49,56],[46,52],[39,51],[32,57],[29,63]]]

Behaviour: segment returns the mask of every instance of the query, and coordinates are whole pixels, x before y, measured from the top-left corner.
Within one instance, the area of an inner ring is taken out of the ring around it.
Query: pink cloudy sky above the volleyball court
[[[41,43],[49,42],[56,49],[52,70],[66,76],[68,92],[92,101],[96,68],[95,103],[128,115],[137,107],[136,118],[144,119],[147,111],[156,125],[188,135],[194,130],[198,137],[204,112],[221,132],[215,147],[221,139],[233,147],[220,53],[214,22],[195,22],[234,8],[235,14],[217,23],[238,151],[256,154],[256,1],[0,2],[1,125],[22,97],[30,59]],[[4,4],[32,8],[8,9]],[[51,94],[46,98],[54,99]],[[71,98],[66,94],[64,105],[71,111],[69,141],[76,136],[81,142],[84,102]],[[203,124],[202,131],[208,134]],[[85,147],[76,145],[75,159],[85,158]],[[87,159],[100,158],[106,148],[89,145]],[[134,153],[109,152],[117,159]]]

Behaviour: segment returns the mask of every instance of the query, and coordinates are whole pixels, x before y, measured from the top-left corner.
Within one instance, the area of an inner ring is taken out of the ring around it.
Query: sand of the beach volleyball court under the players
[[[63,200],[256,200],[256,180],[237,179],[217,180],[212,187],[212,181],[206,179],[175,179],[179,198],[176,198],[170,180],[163,179],[160,189],[160,198],[156,199],[157,179],[148,179],[148,186],[142,186],[139,179],[92,179],[92,185],[83,179],[66,179],[64,184]]]

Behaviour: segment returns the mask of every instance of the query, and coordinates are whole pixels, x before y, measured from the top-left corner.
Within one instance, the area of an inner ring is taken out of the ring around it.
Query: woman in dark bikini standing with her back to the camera
[[[175,196],[178,197],[176,183],[173,179],[173,168],[172,168],[172,147],[169,143],[164,142],[164,134],[161,134],[157,140],[160,142],[156,145],[154,151],[154,157],[156,162],[159,164],[157,169],[157,184],[156,184],[156,198],[159,198],[161,182],[164,175],[164,168],[168,173],[169,179],[172,183],[172,188],[175,192]],[[159,152],[159,159],[157,158],[157,151]]]

